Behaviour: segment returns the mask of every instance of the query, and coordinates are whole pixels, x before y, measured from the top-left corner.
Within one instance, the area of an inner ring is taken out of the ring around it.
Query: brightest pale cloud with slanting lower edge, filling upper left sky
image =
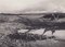
[[[9,12],[9,11],[24,10],[41,1],[42,0],[0,0],[0,11]]]

